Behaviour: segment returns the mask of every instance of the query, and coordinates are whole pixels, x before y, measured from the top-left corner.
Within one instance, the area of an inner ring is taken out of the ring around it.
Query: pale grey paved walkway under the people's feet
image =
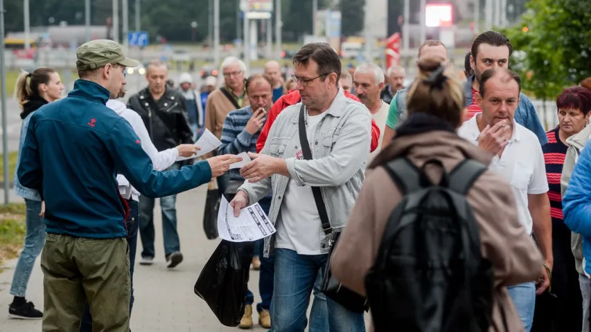
[[[238,328],[222,326],[209,306],[193,293],[193,285],[204,264],[215,250],[219,240],[207,240],[202,230],[203,205],[206,191],[203,188],[191,190],[177,197],[178,230],[184,261],[174,270],[166,268],[162,246],[161,217],[159,204],[155,209],[156,258],[152,266],[136,265],[134,273],[135,303],[131,319],[132,331],[140,332],[186,332],[186,331],[240,331]],[[12,195],[11,195],[12,199]],[[141,252],[141,241],[138,254]],[[12,320],[8,317],[8,306],[12,302],[10,282],[16,261],[10,261],[8,268],[0,273],[0,331],[32,332],[41,331],[41,321]],[[27,299],[43,308],[43,275],[39,260],[31,276]],[[251,273],[249,288],[258,296],[258,273]],[[255,322],[258,322],[256,313]],[[265,331],[255,326],[254,331]]]

